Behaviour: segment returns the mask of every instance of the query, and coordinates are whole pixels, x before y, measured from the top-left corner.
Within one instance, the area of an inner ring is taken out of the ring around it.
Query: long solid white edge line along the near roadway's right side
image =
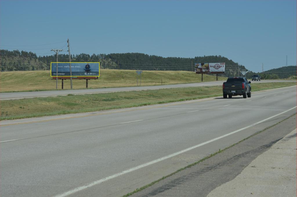
[[[140,169],[140,168],[149,166],[149,165],[151,165],[151,164],[155,164],[155,163],[157,163],[157,162],[159,162],[159,161],[163,161],[163,160],[165,160],[165,159],[174,157],[174,156],[176,156],[176,155],[179,155],[179,154],[181,154],[181,153],[187,152],[187,151],[192,150],[192,149],[194,149],[194,148],[198,148],[198,147],[203,146],[203,145],[206,145],[206,144],[208,144],[208,143],[210,143],[210,142],[214,142],[214,141],[219,140],[219,139],[221,139],[221,138],[223,138],[223,137],[227,137],[227,136],[229,136],[229,135],[232,135],[232,134],[234,134],[234,133],[237,133],[237,132],[239,132],[239,131],[242,131],[242,130],[244,130],[244,129],[247,129],[247,128],[251,127],[251,126],[255,126],[255,125],[257,125],[257,124],[260,124],[260,123],[262,123],[262,122],[264,122],[264,121],[266,121],[266,120],[269,120],[269,119],[274,118],[274,117],[276,117],[276,116],[279,116],[279,115],[281,115],[281,114],[283,114],[283,113],[286,113],[286,112],[288,112],[288,111],[290,111],[290,110],[292,110],[292,109],[295,109],[296,107],[297,107],[297,106],[295,106],[295,107],[293,107],[293,108],[291,108],[291,109],[289,109],[289,110],[286,110],[286,111],[284,111],[284,112],[282,112],[282,113],[278,113],[277,115],[271,116],[271,117],[269,117],[269,118],[266,118],[266,119],[264,119],[264,120],[261,120],[261,121],[259,121],[259,122],[254,123],[254,124],[251,124],[251,125],[249,125],[249,126],[246,126],[246,127],[241,128],[241,129],[238,129],[238,130],[236,130],[236,131],[233,131],[233,132],[231,132],[231,133],[222,135],[222,136],[220,136],[220,137],[216,137],[216,138],[214,138],[214,139],[212,139],[212,140],[208,140],[207,142],[203,142],[203,143],[201,143],[201,144],[198,144],[198,145],[192,146],[192,147],[190,147],[190,148],[187,148],[187,149],[178,151],[178,152],[173,153],[173,154],[171,154],[171,155],[168,155],[168,156],[165,156],[165,157],[161,157],[161,158],[156,159],[156,160],[154,160],[154,161],[150,161],[150,162],[148,162],[148,163],[145,163],[145,164],[136,166],[136,167],[134,167],[134,168],[130,168],[130,169],[124,170],[124,171],[119,172],[119,173],[117,173],[117,174],[113,174],[113,175],[111,175],[111,176],[109,176],[109,177],[105,177],[105,178],[103,178],[103,179],[100,179],[100,180],[91,182],[91,183],[89,183],[89,184],[87,184],[87,185],[84,185],[84,186],[75,188],[75,189],[73,189],[73,190],[69,190],[69,191],[64,192],[64,193],[62,193],[62,194],[59,194],[59,195],[57,195],[57,196],[55,196],[55,197],[65,197],[65,196],[68,196],[68,195],[70,195],[70,194],[76,193],[76,192],[78,192],[78,191],[84,190],[84,189],[89,188],[89,187],[92,187],[92,186],[94,186],[94,185],[98,185],[98,184],[100,184],[100,183],[102,183],[102,182],[105,182],[105,181],[107,181],[107,180],[116,178],[116,177],[121,176],[121,175],[123,175],[123,174],[127,174],[127,173],[129,173],[129,172],[133,172],[133,171],[135,171],[135,170],[138,170],[138,169]]]

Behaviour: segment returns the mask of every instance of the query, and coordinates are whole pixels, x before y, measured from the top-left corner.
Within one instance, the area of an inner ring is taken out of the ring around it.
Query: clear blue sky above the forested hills
[[[254,72],[262,63],[264,71],[285,66],[287,55],[288,65],[296,65],[295,0],[1,0],[0,6],[1,49],[67,54],[69,38],[72,54],[222,55]]]

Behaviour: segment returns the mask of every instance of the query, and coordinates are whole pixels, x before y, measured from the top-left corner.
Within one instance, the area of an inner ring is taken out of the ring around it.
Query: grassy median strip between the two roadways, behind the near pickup
[[[253,92],[293,85],[296,83],[251,84]],[[222,96],[222,86],[3,100],[0,120],[129,108],[215,96]]]

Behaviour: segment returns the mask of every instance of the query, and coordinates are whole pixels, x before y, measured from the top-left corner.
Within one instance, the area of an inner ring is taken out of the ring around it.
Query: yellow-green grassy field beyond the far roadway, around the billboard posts
[[[137,86],[137,73],[132,70],[100,69],[100,77],[89,80],[89,88],[130,87]],[[218,80],[226,80],[219,77]],[[141,86],[162,84],[181,84],[201,82],[201,75],[189,71],[143,71]],[[58,80],[61,89],[61,80]],[[215,75],[203,75],[203,81],[216,81]],[[138,80],[138,83],[140,81]],[[56,80],[51,79],[50,71],[10,71],[0,72],[0,92],[23,92],[55,90]],[[73,89],[86,88],[86,80],[75,79]],[[64,89],[70,89],[70,80],[64,80]]]

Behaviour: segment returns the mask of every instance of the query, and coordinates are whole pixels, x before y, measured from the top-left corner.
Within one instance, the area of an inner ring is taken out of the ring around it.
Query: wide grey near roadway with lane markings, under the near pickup
[[[1,121],[1,196],[122,196],[296,112],[296,86]]]

